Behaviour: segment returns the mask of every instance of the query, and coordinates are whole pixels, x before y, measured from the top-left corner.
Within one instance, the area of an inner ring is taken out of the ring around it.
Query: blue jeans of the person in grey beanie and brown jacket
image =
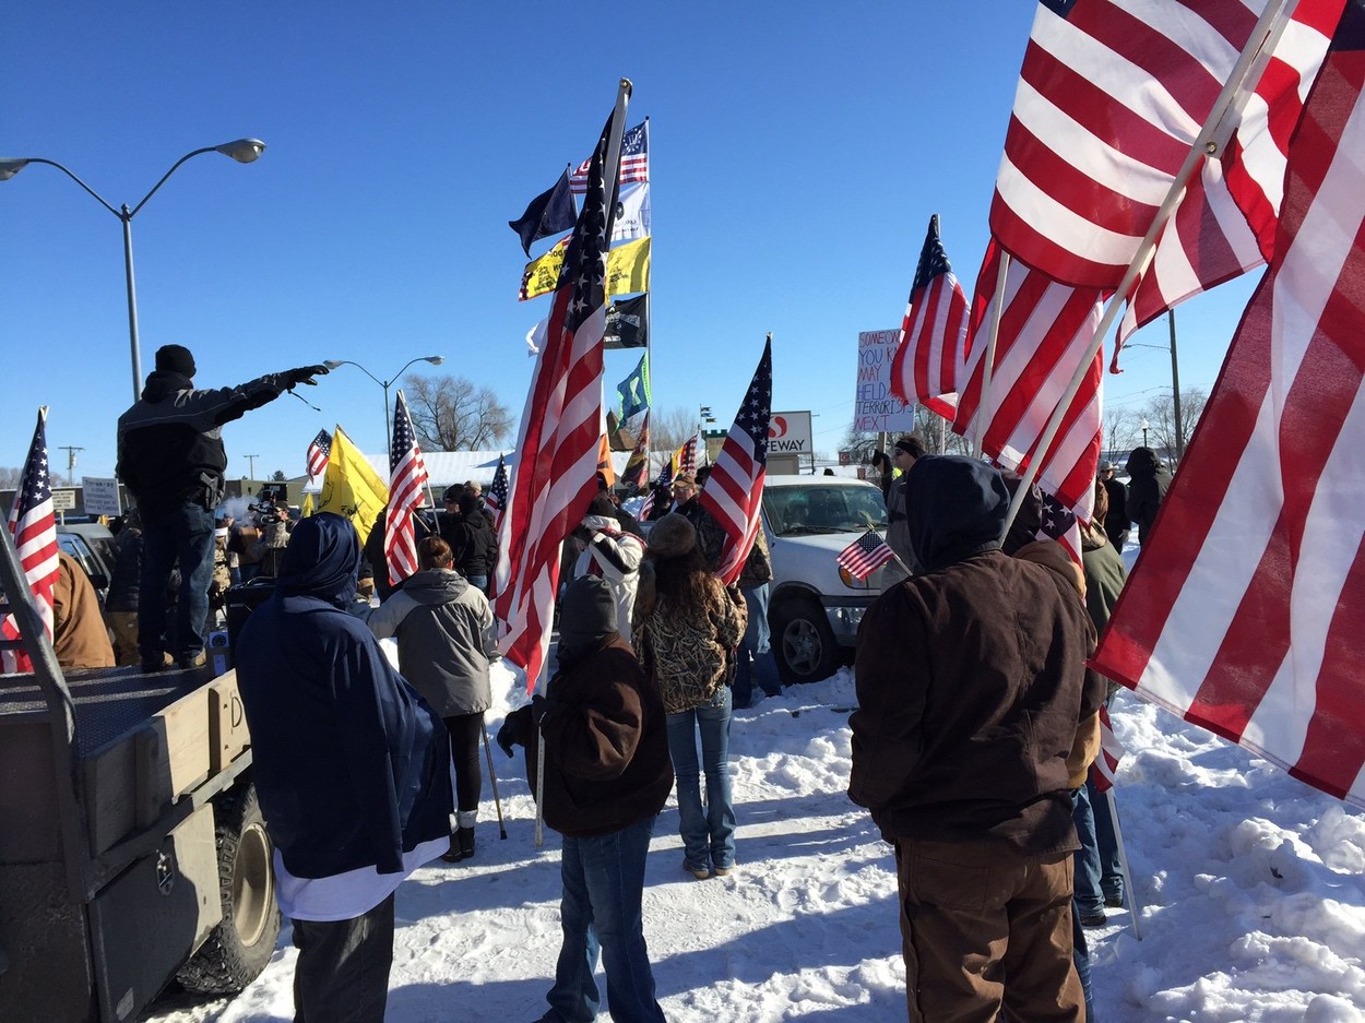
[[[601,1000],[592,973],[606,968],[607,1013],[616,1023],[663,1023],[644,947],[640,896],[654,817],[592,837],[564,836],[564,945],[545,1023],[591,1023]]]

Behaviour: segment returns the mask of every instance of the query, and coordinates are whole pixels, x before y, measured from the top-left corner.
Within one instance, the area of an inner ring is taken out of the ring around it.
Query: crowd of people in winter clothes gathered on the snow
[[[497,537],[478,484],[450,487],[423,522],[419,570],[392,584],[382,517],[362,544],[343,517],[292,522],[274,502],[240,522],[214,514],[221,426],[319,372],[201,391],[192,355],[160,349],[120,419],[119,472],[136,507],[116,540],[108,630],[63,625],[98,622],[89,580],[63,562],[57,633],[78,662],[192,667],[224,595],[273,581],[233,653],[299,948],[296,1012],[379,1020],[393,892],[425,862],[476,855]],[[1126,895],[1108,797],[1088,780],[1114,686],[1085,660],[1123,585],[1119,551],[1133,522],[1149,537],[1170,472],[1140,447],[1125,487],[1103,462],[1076,565],[1037,539],[1036,487],[1003,531],[1021,486],[1011,473],[930,454],[915,435],[876,468],[897,557],[859,633],[849,795],[894,848],[910,1018],[1084,1019],[1084,929]],[[781,690],[773,572],[760,531],[738,581],[721,581],[726,537],[698,499],[704,473],[657,488],[647,536],[599,480],[564,546],[550,678],[497,735],[509,756],[526,749],[564,843],[545,1023],[597,1016],[599,958],[614,1020],[663,1019],[642,904],[670,792],[681,870],[704,881],[740,863],[732,713],[755,686]],[[390,637],[397,670],[379,647]]]

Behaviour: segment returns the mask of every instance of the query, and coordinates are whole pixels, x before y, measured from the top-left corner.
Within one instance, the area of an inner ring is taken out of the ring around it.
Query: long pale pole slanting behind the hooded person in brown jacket
[[[1077,391],[1080,391],[1081,382],[1091,370],[1091,363],[1099,353],[1100,346],[1104,344],[1104,334],[1118,318],[1119,310],[1122,310],[1123,301],[1127,293],[1133,289],[1134,282],[1143,273],[1147,271],[1148,263],[1152,262],[1152,255],[1156,251],[1156,240],[1160,236],[1162,229],[1166,226],[1166,222],[1171,218],[1171,214],[1175,213],[1175,207],[1185,196],[1185,188],[1189,184],[1190,177],[1194,176],[1194,172],[1200,168],[1205,155],[1213,157],[1222,151],[1223,143],[1226,142],[1226,138],[1223,138],[1224,119],[1230,113],[1241,110],[1241,106],[1245,102],[1242,86],[1246,83],[1249,70],[1256,63],[1265,45],[1278,37],[1283,30],[1283,26],[1293,14],[1297,3],[1298,0],[1271,0],[1271,3],[1268,3],[1265,10],[1261,12],[1260,19],[1257,19],[1256,29],[1252,30],[1250,38],[1246,41],[1246,46],[1238,56],[1237,64],[1233,65],[1233,71],[1228,75],[1227,82],[1223,85],[1222,91],[1218,94],[1218,100],[1213,102],[1213,108],[1209,110],[1208,119],[1204,121],[1204,127],[1200,128],[1198,135],[1194,138],[1194,145],[1190,146],[1190,151],[1185,155],[1185,162],[1171,180],[1171,187],[1166,192],[1166,199],[1162,201],[1160,207],[1156,210],[1156,216],[1152,218],[1151,226],[1147,229],[1147,235],[1144,235],[1141,243],[1138,243],[1137,251],[1133,254],[1133,262],[1129,263],[1118,288],[1114,289],[1108,307],[1106,307],[1104,315],[1100,318],[1100,325],[1095,329],[1095,337],[1091,338],[1089,349],[1076,367],[1076,372],[1072,375],[1072,382],[1066,386],[1066,391],[1058,400],[1057,408],[1052,409],[1052,415],[1047,420],[1047,427],[1043,430],[1043,434],[1039,436],[1037,445],[1033,449],[1036,456],[1029,458],[1028,465],[1024,466],[1024,472],[1021,473],[1022,480],[1014,491],[1014,498],[1010,501],[1009,512],[1005,516],[1005,528],[1001,531],[1002,537],[1009,533],[1010,525],[1014,524],[1014,518],[1018,516],[1020,507],[1024,503],[1024,498],[1032,488],[1033,480],[1037,479],[1043,457],[1047,454],[1047,449],[1052,445],[1052,438],[1057,436],[1057,431],[1061,428],[1062,420],[1066,417],[1072,398],[1074,398]]]

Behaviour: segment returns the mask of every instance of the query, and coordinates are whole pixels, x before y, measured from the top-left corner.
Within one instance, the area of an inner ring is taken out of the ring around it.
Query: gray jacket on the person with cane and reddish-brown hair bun
[[[377,638],[399,640],[399,670],[442,717],[493,704],[498,656],[489,599],[452,569],[425,569],[366,617]]]

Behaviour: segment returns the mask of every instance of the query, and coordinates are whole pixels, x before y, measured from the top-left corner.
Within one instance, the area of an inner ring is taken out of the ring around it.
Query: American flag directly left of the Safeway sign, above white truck
[[[740,402],[721,454],[698,495],[725,529],[721,566],[717,576],[725,585],[734,582],[744,570],[753,537],[762,528],[763,477],[767,473],[767,434],[773,419],[773,338],[763,342],[763,356],[749,390]]]

